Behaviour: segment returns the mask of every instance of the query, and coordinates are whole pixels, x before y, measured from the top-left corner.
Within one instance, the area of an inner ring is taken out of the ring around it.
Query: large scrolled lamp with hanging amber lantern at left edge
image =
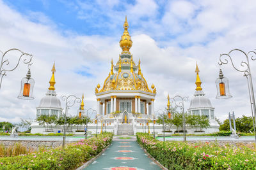
[[[4,68],[4,66],[8,66],[10,64],[10,62],[8,59],[5,59],[4,57],[10,52],[19,52],[21,54],[20,54],[17,64],[13,68],[7,69],[7,68]],[[1,53],[2,53],[2,57],[1,57],[1,63],[0,63],[0,89],[1,89],[2,81],[3,81],[3,77],[6,76],[6,72],[11,72],[11,71],[15,70],[19,66],[21,58],[24,56],[25,59],[23,60],[23,63],[28,64],[28,73],[25,78],[22,78],[21,90],[20,90],[20,94],[19,94],[18,98],[19,99],[34,99],[33,87],[34,87],[35,81],[33,80],[33,78],[31,78],[31,73],[30,73],[30,66],[32,65],[31,60],[32,60],[33,55],[24,53],[17,48],[12,48],[10,50],[7,50],[6,52],[1,52]]]

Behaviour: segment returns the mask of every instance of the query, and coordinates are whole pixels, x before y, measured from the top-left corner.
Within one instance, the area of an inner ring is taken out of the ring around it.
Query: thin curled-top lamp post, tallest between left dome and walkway
[[[74,100],[68,100],[70,97],[73,97]],[[79,97],[76,97],[74,95],[70,95],[70,96],[61,96],[61,99],[63,101],[65,101],[65,115],[64,115],[64,132],[63,132],[63,141],[62,141],[62,148],[65,148],[65,138],[66,138],[66,116],[67,116],[67,110],[69,108],[71,108],[72,106],[74,106],[74,104],[76,103],[81,103],[81,99]]]

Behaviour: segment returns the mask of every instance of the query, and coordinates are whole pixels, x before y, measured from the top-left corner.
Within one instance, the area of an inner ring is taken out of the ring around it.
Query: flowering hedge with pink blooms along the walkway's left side
[[[104,150],[112,138],[113,134],[104,133],[99,134],[98,138],[71,143],[64,149],[58,147],[28,155],[0,158],[0,169],[76,169]]]

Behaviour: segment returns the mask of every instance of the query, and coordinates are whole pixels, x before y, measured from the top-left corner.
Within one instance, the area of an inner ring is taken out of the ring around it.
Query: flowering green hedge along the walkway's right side
[[[219,146],[218,143],[158,141],[137,133],[137,141],[168,169],[255,169],[256,146]]]

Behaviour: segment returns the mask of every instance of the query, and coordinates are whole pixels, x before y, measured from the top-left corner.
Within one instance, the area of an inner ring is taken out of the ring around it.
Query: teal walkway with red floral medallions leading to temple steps
[[[106,152],[84,169],[157,170],[161,168],[148,158],[136,142],[136,137],[114,136]]]

